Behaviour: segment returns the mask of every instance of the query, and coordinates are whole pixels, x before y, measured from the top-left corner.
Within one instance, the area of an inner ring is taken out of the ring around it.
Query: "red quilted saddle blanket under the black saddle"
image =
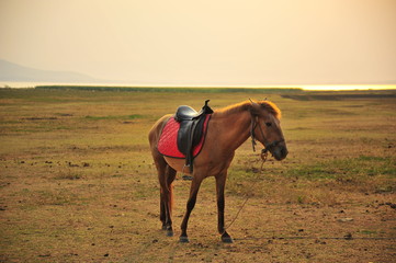
[[[207,130],[207,124],[210,122],[211,114],[206,115],[205,122],[204,122],[204,128],[203,128],[203,135],[200,140],[200,144],[197,144],[193,149],[193,157],[196,157],[204,145],[206,130]],[[161,136],[159,137],[159,141],[157,145],[159,153],[167,157],[173,157],[173,158],[185,158],[185,156],[180,152],[178,148],[178,132],[179,132],[180,123],[178,123],[174,117],[170,117],[168,123],[165,125]]]

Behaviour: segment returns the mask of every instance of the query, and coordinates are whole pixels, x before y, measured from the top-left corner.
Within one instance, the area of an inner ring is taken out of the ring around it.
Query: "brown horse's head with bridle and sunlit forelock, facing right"
[[[251,114],[251,137],[258,139],[270,151],[276,160],[286,158],[288,151],[281,129],[281,111],[275,104],[269,101],[252,102]]]

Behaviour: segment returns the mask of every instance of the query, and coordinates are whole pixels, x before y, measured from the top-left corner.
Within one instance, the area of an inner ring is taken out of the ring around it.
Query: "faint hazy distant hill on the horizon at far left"
[[[0,59],[0,81],[92,83],[102,82],[103,80],[98,80],[90,76],[71,71],[39,70],[23,67]]]

